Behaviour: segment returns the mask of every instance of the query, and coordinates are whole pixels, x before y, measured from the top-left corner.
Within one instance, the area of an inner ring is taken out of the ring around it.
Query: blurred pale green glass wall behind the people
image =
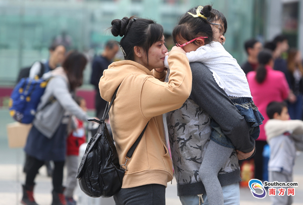
[[[263,35],[263,27],[258,27],[260,15],[254,20],[262,0],[0,0],[0,86],[14,85],[21,67],[46,59],[49,45],[62,35],[69,36],[70,49],[85,52],[92,59],[102,52],[106,41],[120,39],[108,30],[113,19],[132,15],[151,18],[170,34],[188,9],[209,3],[226,16],[224,47],[242,63],[246,57],[243,42]],[[89,75],[90,64],[85,84]]]

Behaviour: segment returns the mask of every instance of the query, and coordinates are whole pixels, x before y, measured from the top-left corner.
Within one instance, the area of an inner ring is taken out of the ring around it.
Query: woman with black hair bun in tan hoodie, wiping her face
[[[185,52],[173,47],[168,57],[169,82],[164,58],[163,27],[152,20],[124,17],[112,21],[111,32],[123,37],[120,46],[125,60],[114,62],[99,82],[100,95],[110,102],[110,123],[119,156],[126,164],[121,190],[114,195],[121,204],[165,204],[165,188],[173,179],[166,146],[162,114],[182,106],[191,92],[191,71]],[[158,71],[156,68],[163,67]],[[148,122],[148,124],[147,124]],[[134,154],[126,154],[146,126]]]

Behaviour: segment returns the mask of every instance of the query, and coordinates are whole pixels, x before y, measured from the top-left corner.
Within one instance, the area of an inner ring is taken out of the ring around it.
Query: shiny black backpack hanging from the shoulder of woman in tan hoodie
[[[81,190],[90,197],[111,197],[121,189],[123,176],[127,170],[126,163],[131,160],[148,124],[147,122],[138,139],[127,152],[126,162],[120,166],[114,140],[104,121],[116,98],[118,88],[111,103],[107,103],[102,119],[88,119],[100,125],[97,133],[87,144],[76,178],[79,179]]]

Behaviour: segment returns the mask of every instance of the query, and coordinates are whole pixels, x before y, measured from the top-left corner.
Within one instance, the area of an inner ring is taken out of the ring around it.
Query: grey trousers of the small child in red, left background
[[[76,179],[76,175],[78,171],[78,166],[78,156],[66,156],[67,177],[64,195],[67,197],[73,197],[74,190],[77,186],[78,180]]]

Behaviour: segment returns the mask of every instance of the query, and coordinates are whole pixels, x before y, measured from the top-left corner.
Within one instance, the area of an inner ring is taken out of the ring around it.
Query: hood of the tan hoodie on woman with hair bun
[[[110,102],[118,86],[132,74],[153,76],[146,67],[132,60],[121,60],[110,64],[99,81],[101,97]]]

